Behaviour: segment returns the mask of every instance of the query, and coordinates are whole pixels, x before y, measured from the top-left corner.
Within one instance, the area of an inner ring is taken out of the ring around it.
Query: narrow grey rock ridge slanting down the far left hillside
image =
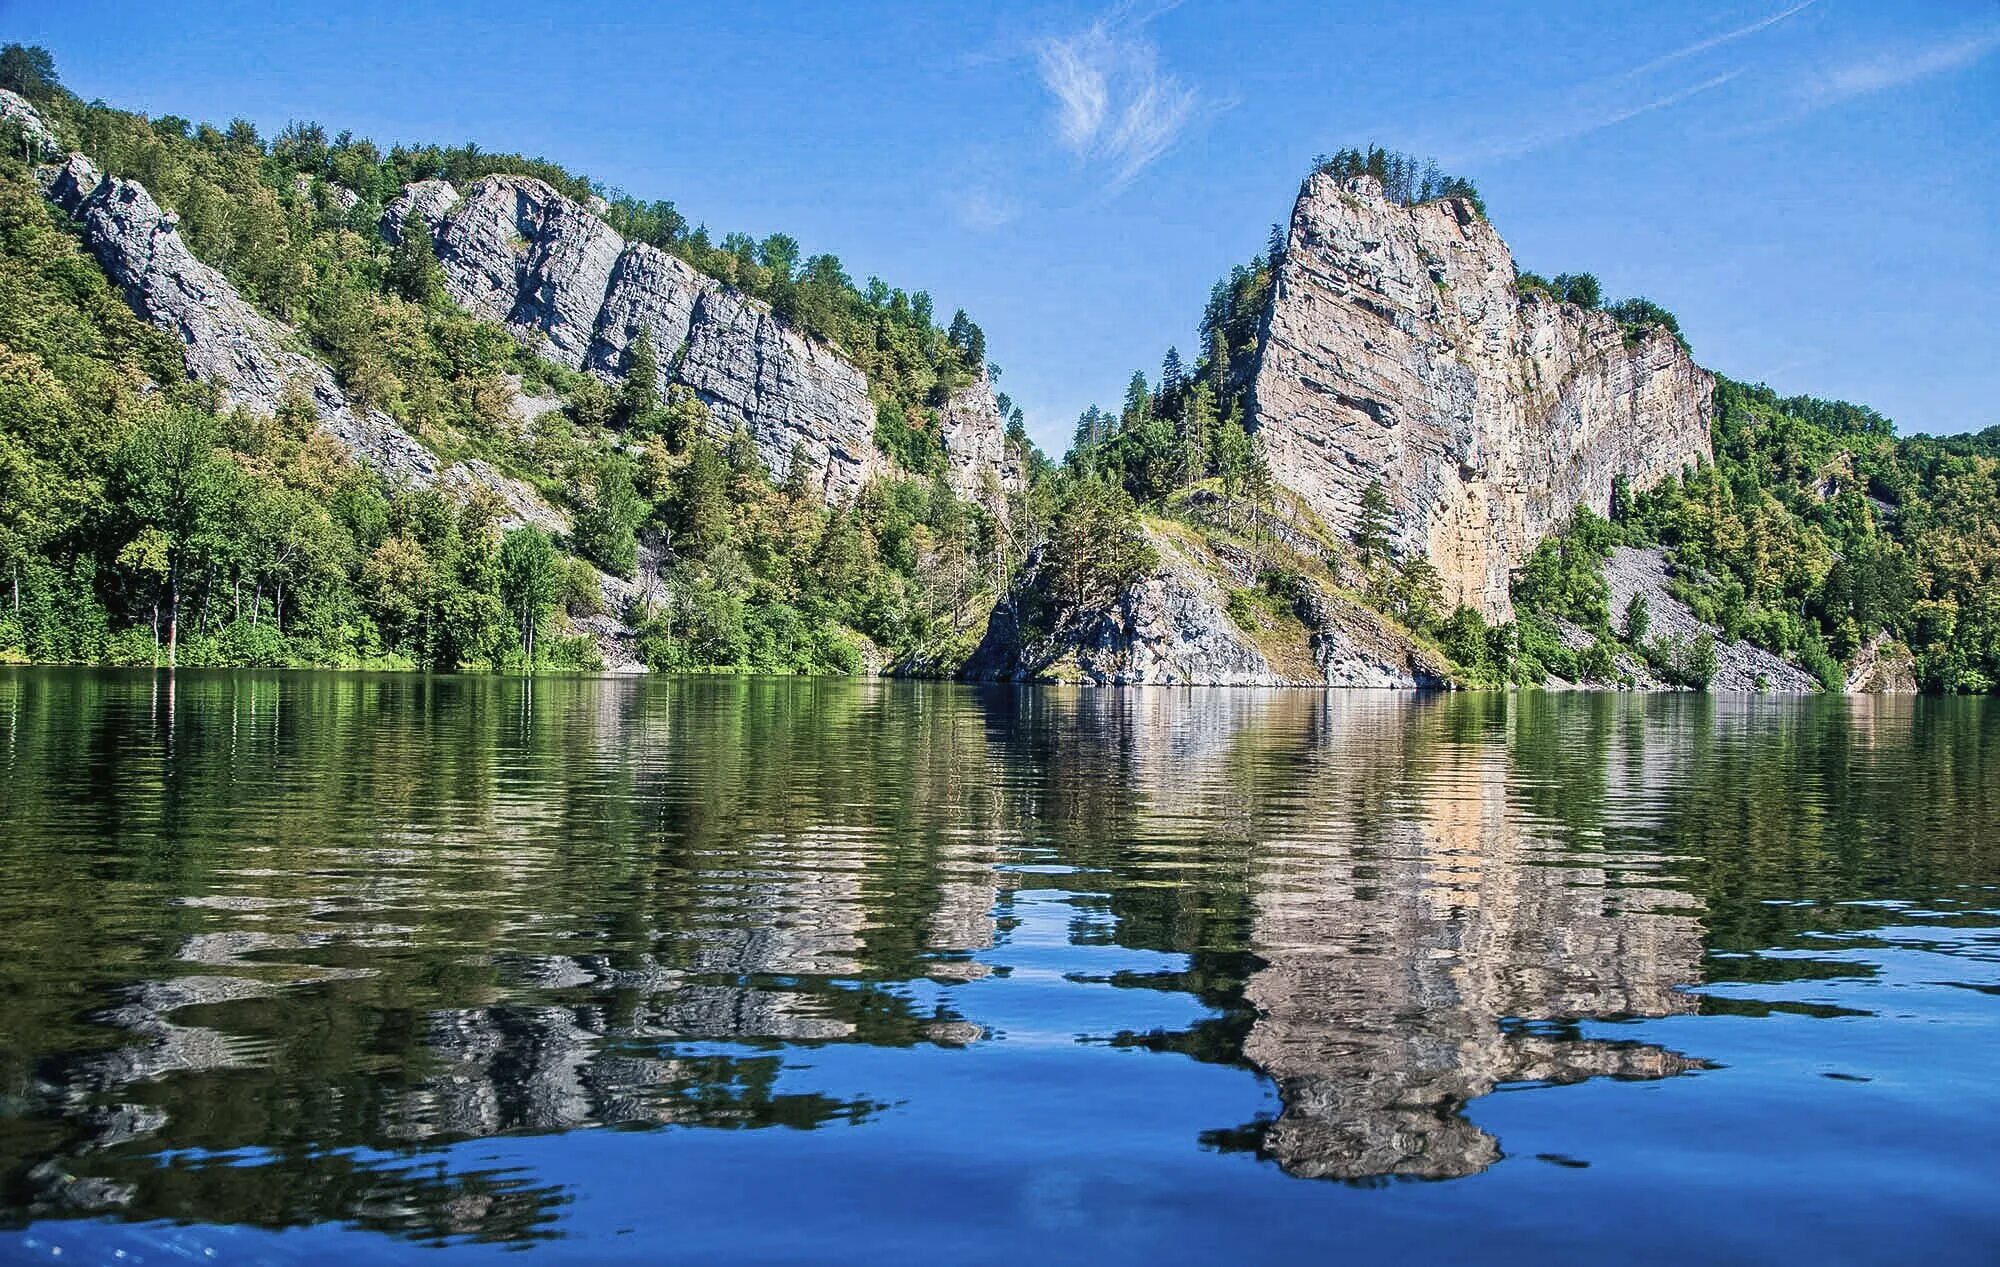
[[[44,170],[44,192],[82,226],[126,302],[180,338],[188,376],[218,384],[230,406],[274,414],[288,392],[304,392],[320,430],[390,482],[456,494],[490,490],[512,522],[568,528],[562,512],[526,484],[484,462],[440,464],[396,420],[354,406],[326,366],[292,350],[298,332],[256,312],[228,278],[194,258],[176,218],[136,180],[108,180],[72,154]]]

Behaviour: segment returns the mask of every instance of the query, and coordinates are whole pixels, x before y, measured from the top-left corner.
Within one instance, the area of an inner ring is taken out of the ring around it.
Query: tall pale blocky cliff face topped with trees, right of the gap
[[[1508,572],[1612,480],[1708,454],[1714,380],[1664,330],[1520,298],[1484,216],[1308,178],[1276,270],[1250,422],[1276,480],[1352,530],[1380,482],[1392,546],[1446,602],[1510,614]]]

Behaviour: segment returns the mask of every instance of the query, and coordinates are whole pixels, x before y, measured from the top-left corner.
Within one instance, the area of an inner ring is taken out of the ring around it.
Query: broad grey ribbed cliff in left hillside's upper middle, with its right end
[[[412,222],[432,230],[452,298],[550,362],[618,380],[628,348],[648,330],[662,392],[692,388],[718,438],[746,428],[776,476],[802,454],[826,498],[848,500],[884,470],[868,380],[852,362],[786,326],[768,304],[626,242],[548,184],[488,176],[464,198],[444,182],[412,184],[382,228],[400,238]],[[974,490],[980,466],[1004,464],[998,410],[956,408],[946,450],[954,484]]]

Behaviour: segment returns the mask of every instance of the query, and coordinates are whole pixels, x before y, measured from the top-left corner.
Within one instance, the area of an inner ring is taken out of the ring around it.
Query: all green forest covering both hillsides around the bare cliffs
[[[1488,626],[1444,610],[1428,560],[1388,548],[1382,490],[1336,536],[1258,456],[1248,390],[1276,230],[1216,282],[1192,354],[1170,348],[1156,374],[1130,376],[1116,410],[1086,410],[1060,464],[1000,396],[1028,482],[996,514],[946,484],[936,412],[1000,372],[980,328],[964,312],[940,324],[924,292],[858,286],[784,234],[716,238],[670,202],[546,160],[382,152],[316,124],[262,138],[242,120],[148,120],[78,100],[44,52],[20,46],[0,52],[0,86],[108,174],[140,180],[358,404],[444,460],[526,480],[572,520],[562,538],[502,532],[492,502],[390,488],[316,430],[304,400],[276,418],[224,410],[44,202],[28,150],[0,138],[0,661],[590,669],[580,622],[604,616],[608,574],[640,582],[636,610],[610,616],[638,628],[654,669],[950,673],[1026,562],[1042,588],[1026,610],[1102,606],[1156,564],[1150,534],[1178,532],[1260,560],[1258,588],[1230,600],[1246,628],[1282,618],[1310,578],[1432,647],[1464,685],[1618,683],[1632,661],[1706,685],[1712,639],[1656,635],[1642,604],[1610,610],[1604,562],[1618,546],[1666,550],[1672,592],[1700,620],[1828,689],[1878,634],[1908,647],[1926,689],[2000,685],[2000,428],[1898,438],[1862,406],[1722,378],[1714,462],[1642,494],[1620,486],[1608,514],[1578,508],[1516,576],[1516,618]],[[1484,216],[1472,182],[1388,150],[1342,150],[1314,170]],[[428,240],[390,248],[376,220],[406,182],[494,172],[602,196],[628,238],[838,348],[868,378],[876,444],[898,474],[826,506],[802,474],[774,482],[746,434],[714,436],[692,394],[662,398],[646,338],[626,382],[606,386],[462,314]],[[1668,310],[1606,302],[1590,274],[1522,272],[1518,288],[1604,310],[1634,340],[1682,338]],[[522,430],[522,392],[562,408]]]

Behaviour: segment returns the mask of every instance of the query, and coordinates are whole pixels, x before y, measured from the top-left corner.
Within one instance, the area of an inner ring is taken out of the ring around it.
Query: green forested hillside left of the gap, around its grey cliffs
[[[348,398],[394,416],[442,460],[480,458],[536,486],[572,530],[498,530],[498,508],[416,494],[354,466],[304,402],[226,412],[184,382],[174,340],[142,324],[42,202],[32,146],[0,146],[0,655],[112,663],[588,667],[580,632],[636,626],[652,667],[856,671],[948,661],[976,637],[1020,554],[1002,516],[946,488],[944,396],[978,378],[984,336],[930,298],[852,286],[790,238],[710,244],[668,204],[606,218],[764,296],[850,354],[900,476],[844,506],[774,484],[744,436],[718,440],[688,394],[622,386],[530,356],[456,310],[424,240],[390,248],[382,204],[404,182],[528,174],[578,196],[554,164],[462,148],[396,148],[312,124],[144,120],[64,92],[40,50],[10,48],[20,92],[64,148],[142,182],[196,254],[294,324]],[[660,356],[632,350],[634,364]],[[636,368],[634,366],[634,368]],[[1002,398],[1002,408],[1006,402]],[[1016,444],[1026,448],[1018,432]],[[634,578],[604,614],[598,570]]]

